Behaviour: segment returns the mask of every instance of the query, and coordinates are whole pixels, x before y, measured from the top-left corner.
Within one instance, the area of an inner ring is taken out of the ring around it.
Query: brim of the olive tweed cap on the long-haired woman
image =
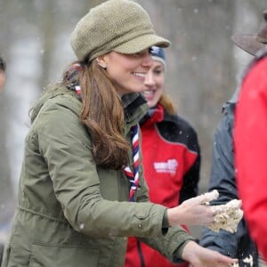
[[[116,51],[117,53],[138,53],[141,52],[153,45],[166,48],[171,43],[160,36],[156,36],[153,34],[145,35],[145,36],[138,36],[135,37],[133,40],[130,40],[124,44],[120,44],[117,47],[113,48],[113,51]]]

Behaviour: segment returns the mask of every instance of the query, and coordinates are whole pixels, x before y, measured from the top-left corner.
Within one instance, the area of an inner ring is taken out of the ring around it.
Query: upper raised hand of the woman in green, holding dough
[[[206,195],[190,198],[167,210],[168,223],[174,225],[208,225],[214,222],[214,213],[210,206],[205,205],[210,201]]]

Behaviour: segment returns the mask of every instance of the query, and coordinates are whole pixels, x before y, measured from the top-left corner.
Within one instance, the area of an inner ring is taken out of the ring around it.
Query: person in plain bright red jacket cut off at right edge
[[[234,129],[239,196],[251,236],[267,261],[267,50],[243,78]]]

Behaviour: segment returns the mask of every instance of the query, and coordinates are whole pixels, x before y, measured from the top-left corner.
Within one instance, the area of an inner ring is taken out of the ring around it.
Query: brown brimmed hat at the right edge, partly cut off
[[[235,34],[231,36],[234,44],[252,55],[255,55],[255,53],[262,49],[267,44],[267,10],[263,12],[263,19],[256,35]]]

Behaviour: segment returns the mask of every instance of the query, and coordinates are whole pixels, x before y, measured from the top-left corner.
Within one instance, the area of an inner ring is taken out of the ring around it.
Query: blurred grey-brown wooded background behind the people
[[[28,110],[44,86],[59,80],[66,65],[75,60],[69,35],[77,21],[101,2],[0,0],[0,53],[7,61],[7,83],[0,96],[0,223],[13,212]],[[231,42],[231,35],[256,33],[266,0],[136,2],[150,14],[158,35],[172,42],[166,50],[166,91],[177,112],[198,132],[199,193],[205,192],[223,102],[231,98],[252,58]]]

